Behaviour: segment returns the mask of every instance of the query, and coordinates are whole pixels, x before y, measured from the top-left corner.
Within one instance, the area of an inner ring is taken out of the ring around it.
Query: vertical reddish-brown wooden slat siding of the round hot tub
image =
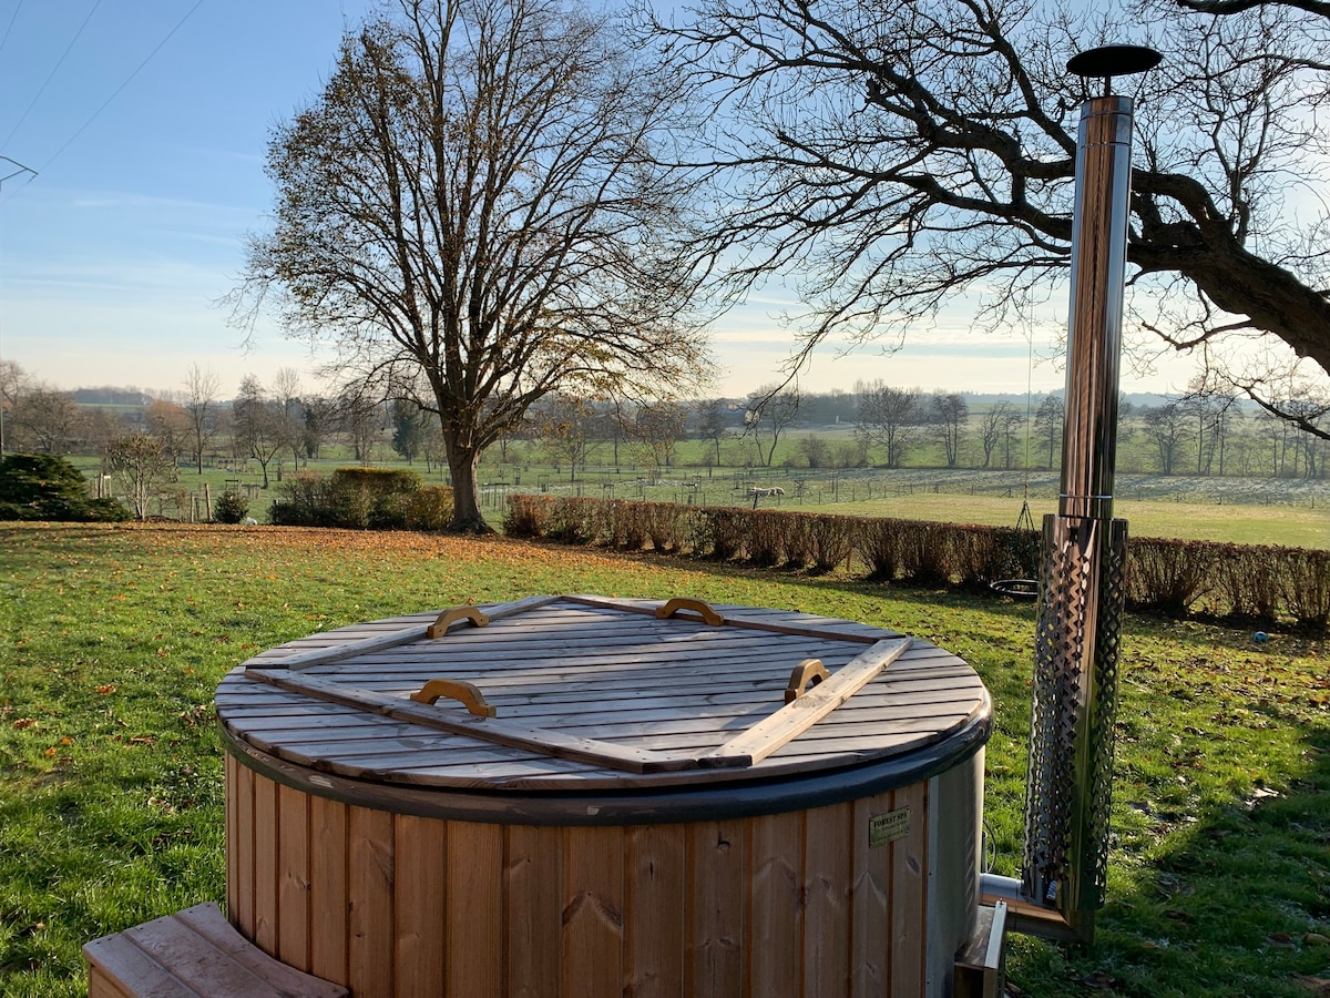
[[[322,797],[301,809],[282,806],[286,789],[229,781],[229,812],[254,817],[277,869],[241,853],[227,904],[233,917],[253,904],[242,931],[273,926],[263,949],[355,998],[923,994],[927,781],[753,818],[608,828]],[[870,846],[870,818],[903,808],[908,834]],[[286,886],[265,890],[267,876]]]

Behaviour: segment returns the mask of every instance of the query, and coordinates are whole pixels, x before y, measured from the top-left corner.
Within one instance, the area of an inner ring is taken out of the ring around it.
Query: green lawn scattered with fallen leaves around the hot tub
[[[537,592],[798,608],[955,651],[994,696],[990,850],[995,872],[1016,874],[1029,605],[504,538],[0,524],[0,994],[80,994],[82,942],[221,900],[210,701],[229,668],[311,631]],[[1326,994],[1325,643],[1129,617],[1123,645],[1097,946],[1013,937],[1013,986]]]

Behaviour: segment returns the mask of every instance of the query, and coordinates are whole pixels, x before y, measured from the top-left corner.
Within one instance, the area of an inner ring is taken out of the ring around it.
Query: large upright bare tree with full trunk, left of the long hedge
[[[390,8],[277,129],[247,290],[281,289],[291,334],[438,415],[451,526],[484,531],[476,463],[537,399],[665,394],[702,370],[670,246],[690,185],[656,150],[677,83],[557,0]]]

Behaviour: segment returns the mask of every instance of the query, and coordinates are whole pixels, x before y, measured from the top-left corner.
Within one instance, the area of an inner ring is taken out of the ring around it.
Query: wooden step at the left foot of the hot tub
[[[347,998],[273,959],[209,902],[84,945],[88,998]]]

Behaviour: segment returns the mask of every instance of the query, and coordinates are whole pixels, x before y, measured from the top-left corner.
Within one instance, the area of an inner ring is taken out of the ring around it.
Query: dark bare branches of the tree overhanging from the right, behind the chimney
[[[694,161],[739,197],[701,246],[735,293],[802,281],[803,351],[891,345],[958,305],[988,325],[1060,306],[1077,106],[1099,86],[1065,63],[1145,40],[1162,65],[1117,83],[1138,96],[1134,325],[1253,398],[1267,379],[1236,339],[1330,370],[1325,5],[1184,3],[1129,0],[1108,24],[1061,0],[701,0],[656,24],[720,109]]]

